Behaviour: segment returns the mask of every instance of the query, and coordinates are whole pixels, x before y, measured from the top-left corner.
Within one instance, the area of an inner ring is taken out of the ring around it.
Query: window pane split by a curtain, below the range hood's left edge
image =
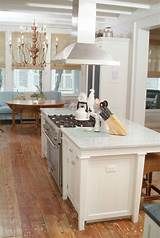
[[[58,70],[52,70],[52,90],[57,86]],[[80,84],[80,71],[79,70],[63,70],[58,91],[62,95],[78,95]]]

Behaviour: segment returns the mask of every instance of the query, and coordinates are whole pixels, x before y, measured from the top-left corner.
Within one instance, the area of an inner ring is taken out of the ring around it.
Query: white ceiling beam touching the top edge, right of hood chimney
[[[132,8],[141,8],[141,9],[150,9],[149,4],[144,3],[135,3],[135,2],[124,2],[124,1],[114,1],[114,0],[96,0],[96,3],[120,7],[132,7]]]

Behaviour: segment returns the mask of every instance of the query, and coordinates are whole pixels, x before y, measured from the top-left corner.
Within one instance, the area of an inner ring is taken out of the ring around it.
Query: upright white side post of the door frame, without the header
[[[144,124],[146,101],[146,78],[148,71],[149,33],[138,29],[135,23],[135,45],[132,64],[132,94],[130,99],[130,119]]]

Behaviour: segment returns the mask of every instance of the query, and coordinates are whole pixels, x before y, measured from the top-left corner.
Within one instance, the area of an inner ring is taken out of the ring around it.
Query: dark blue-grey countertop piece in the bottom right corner
[[[152,218],[154,222],[160,226],[160,203],[158,204],[145,204],[144,211]]]

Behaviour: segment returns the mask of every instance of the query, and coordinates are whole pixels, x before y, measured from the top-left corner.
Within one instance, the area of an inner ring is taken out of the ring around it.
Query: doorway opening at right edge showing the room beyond
[[[149,31],[145,126],[160,131],[160,27]]]

